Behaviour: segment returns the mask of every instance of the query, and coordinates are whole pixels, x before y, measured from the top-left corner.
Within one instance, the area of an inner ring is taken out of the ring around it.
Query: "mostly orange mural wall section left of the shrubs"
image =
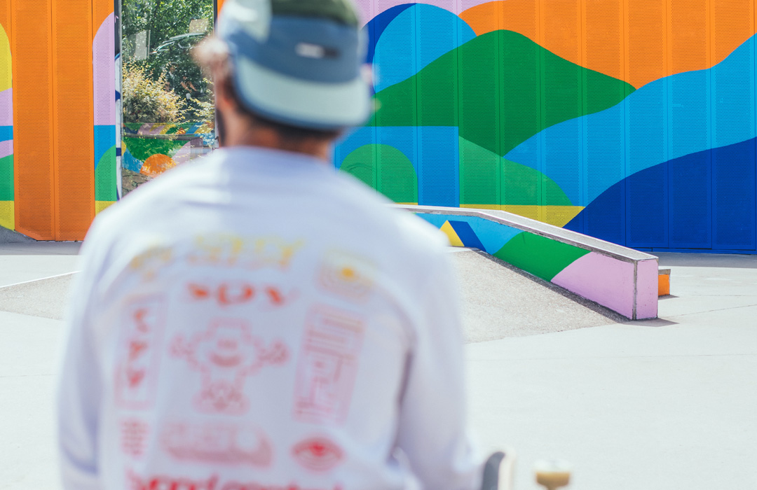
[[[114,2],[0,0],[0,225],[82,240],[116,200]]]

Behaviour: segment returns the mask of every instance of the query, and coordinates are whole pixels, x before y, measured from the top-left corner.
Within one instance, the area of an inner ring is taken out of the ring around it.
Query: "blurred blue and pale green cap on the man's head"
[[[366,40],[351,0],[226,0],[217,36],[229,45],[241,104],[253,113],[326,131],[369,117]]]

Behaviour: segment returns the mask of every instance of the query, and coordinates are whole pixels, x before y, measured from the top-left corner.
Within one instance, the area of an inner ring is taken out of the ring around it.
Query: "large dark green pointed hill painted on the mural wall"
[[[460,136],[501,157],[541,130],[612,107],[634,90],[499,30],[378,92],[369,125],[458,126]]]

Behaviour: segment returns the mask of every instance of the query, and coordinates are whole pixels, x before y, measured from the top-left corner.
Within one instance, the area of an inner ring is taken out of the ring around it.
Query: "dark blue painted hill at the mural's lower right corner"
[[[753,252],[755,174],[755,138],[688,154],[618,181],[565,228],[626,247]]]

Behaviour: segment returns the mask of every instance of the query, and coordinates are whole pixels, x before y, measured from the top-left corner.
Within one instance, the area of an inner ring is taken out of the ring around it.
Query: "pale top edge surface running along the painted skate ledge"
[[[616,245],[599,238],[589,237],[580,234],[577,231],[565,230],[547,223],[538,222],[535,219],[525,218],[512,214],[512,212],[497,211],[495,209],[472,209],[456,208],[442,206],[408,206],[407,204],[394,204],[392,207],[397,209],[406,209],[411,212],[421,212],[427,214],[445,214],[456,216],[472,216],[482,219],[488,219],[492,222],[500,223],[512,228],[518,228],[522,231],[537,234],[542,237],[551,238],[562,243],[568,243],[574,247],[579,247],[590,252],[601,253],[611,256],[623,262],[643,262],[646,260],[657,260],[657,256],[649,253],[639,252],[638,250]]]

